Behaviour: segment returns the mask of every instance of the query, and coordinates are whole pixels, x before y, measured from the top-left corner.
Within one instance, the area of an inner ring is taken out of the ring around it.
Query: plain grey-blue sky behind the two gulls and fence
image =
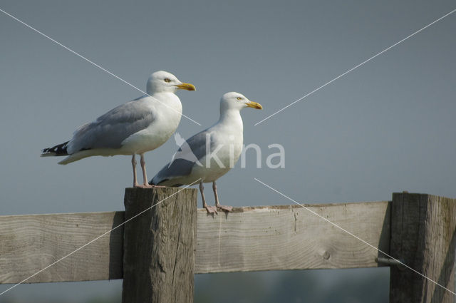
[[[257,169],[248,153],[252,165],[238,163],[218,183],[221,202],[235,206],[290,204],[254,177],[302,202],[388,200],[402,190],[456,197],[456,14],[254,126],[455,8],[454,1],[0,4],[142,90],[160,69],[194,84],[196,92],[178,94],[185,115],[202,126],[182,118],[185,138],[217,120],[227,91],[261,103],[264,111],[242,111],[244,143],[263,148],[263,164],[267,145],[284,145],[286,168]],[[130,158],[61,166],[39,153],[141,93],[1,13],[0,41],[0,215],[123,210]],[[150,178],[175,149],[170,140],[146,154]],[[39,289],[12,292],[32,287]]]

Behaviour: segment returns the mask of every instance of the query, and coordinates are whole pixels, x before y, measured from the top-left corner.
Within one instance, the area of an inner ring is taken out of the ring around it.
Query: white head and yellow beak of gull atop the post
[[[156,71],[147,80],[147,93],[175,93],[178,89],[195,91],[196,88],[190,83],[182,83],[172,73],[167,71]]]

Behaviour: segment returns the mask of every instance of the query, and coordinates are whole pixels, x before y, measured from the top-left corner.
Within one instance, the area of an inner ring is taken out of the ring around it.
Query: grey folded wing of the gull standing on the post
[[[113,108],[97,120],[82,125],[68,143],[69,153],[94,148],[120,148],[123,140],[147,128],[155,114],[144,98]]]

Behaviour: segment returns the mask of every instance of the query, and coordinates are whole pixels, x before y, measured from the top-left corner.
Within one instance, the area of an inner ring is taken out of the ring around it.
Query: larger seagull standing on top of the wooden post
[[[71,140],[44,148],[41,157],[63,156],[66,165],[93,155],[132,155],[133,187],[150,188],[147,183],[144,153],[165,143],[179,125],[182,104],[178,89],[195,91],[172,73],[156,71],[147,80],[147,94],[113,108],[95,121],[81,125]],[[143,184],[136,179],[136,154],[140,155]]]

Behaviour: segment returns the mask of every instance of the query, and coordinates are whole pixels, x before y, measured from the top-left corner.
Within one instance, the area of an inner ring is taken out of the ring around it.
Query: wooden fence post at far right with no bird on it
[[[456,199],[394,193],[390,255],[455,292]],[[456,302],[403,266],[391,267],[390,302]]]

